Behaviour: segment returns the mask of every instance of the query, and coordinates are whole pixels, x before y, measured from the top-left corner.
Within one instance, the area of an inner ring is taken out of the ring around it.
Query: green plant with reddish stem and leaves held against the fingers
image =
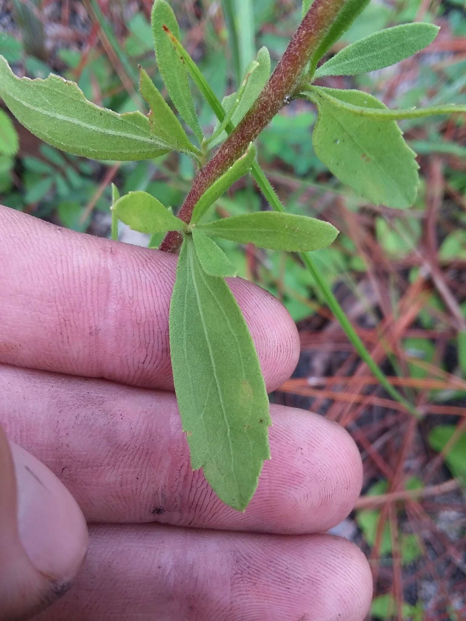
[[[140,70],[140,93],[150,108],[148,116],[117,114],[96,106],[76,84],[58,76],[17,78],[0,58],[0,95],[17,119],[50,145],[96,160],[147,160],[178,151],[198,166],[177,217],[141,189],[119,197],[114,188],[112,237],[120,219],[153,236],[167,232],[160,246],[165,252],[181,248],[170,307],[170,347],[183,430],[193,468],[203,467],[216,494],[237,510],[247,506],[263,460],[270,456],[270,419],[254,344],[224,280],[236,268],[212,238],[299,252],[363,360],[391,396],[417,415],[372,361],[307,254],[331,243],[337,230],[321,220],[286,214],[255,160],[255,138],[281,107],[300,97],[318,109],[314,152],[334,175],[375,203],[401,209],[413,203],[418,166],[396,120],[464,112],[466,106],[389,110],[362,91],[314,84],[316,78],[327,75],[354,75],[396,63],[429,45],[437,34],[437,27],[430,24],[382,30],[347,46],[318,68],[319,60],[367,4],[367,0],[306,0],[303,21],[272,76],[266,48],[259,50],[256,59],[250,58],[249,65],[240,56],[237,64],[245,67],[244,78],[236,93],[219,102],[182,47],[170,5],[155,0],[152,32],[158,69],[191,135],[144,70]],[[91,1],[90,6],[104,24],[98,4]],[[104,34],[112,45],[108,24]],[[144,45],[137,52],[141,50]],[[132,78],[126,57],[122,64]],[[196,114],[190,77],[219,120],[207,138]],[[211,156],[219,142],[221,147]],[[249,171],[275,213],[253,212],[206,222],[212,204]]]

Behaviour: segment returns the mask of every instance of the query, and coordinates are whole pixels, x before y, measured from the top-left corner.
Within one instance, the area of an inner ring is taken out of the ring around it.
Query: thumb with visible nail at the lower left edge
[[[25,619],[66,592],[87,546],[73,497],[0,427],[0,619]]]

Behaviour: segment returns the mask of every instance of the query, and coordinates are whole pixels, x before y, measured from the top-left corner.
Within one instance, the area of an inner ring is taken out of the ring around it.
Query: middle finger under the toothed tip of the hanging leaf
[[[272,406],[272,460],[242,514],[191,470],[172,393],[0,366],[0,400],[10,437],[62,477],[90,521],[316,532],[359,496],[354,442],[303,410]]]

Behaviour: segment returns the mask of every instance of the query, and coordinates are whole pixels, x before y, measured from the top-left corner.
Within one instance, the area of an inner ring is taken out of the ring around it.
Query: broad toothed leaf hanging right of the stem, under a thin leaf
[[[386,109],[385,104],[362,91],[338,90],[337,94],[354,106]],[[411,206],[416,198],[419,166],[414,159],[416,153],[404,142],[396,122],[352,114],[320,97],[314,89],[309,98],[319,111],[314,150],[329,170],[375,204],[401,209]]]

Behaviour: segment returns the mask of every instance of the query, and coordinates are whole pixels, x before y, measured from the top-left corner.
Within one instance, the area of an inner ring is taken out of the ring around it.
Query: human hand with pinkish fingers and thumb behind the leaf
[[[4,207],[0,222],[0,422],[30,452],[11,444],[16,512],[0,436],[0,620],[30,619],[73,578],[37,621],[362,620],[367,561],[319,534],[360,491],[349,435],[321,416],[271,406],[272,460],[244,514],[230,509],[191,471],[176,409],[176,257]],[[254,284],[231,287],[272,391],[296,365],[295,325]],[[83,518],[44,465],[91,523],[79,573]]]

